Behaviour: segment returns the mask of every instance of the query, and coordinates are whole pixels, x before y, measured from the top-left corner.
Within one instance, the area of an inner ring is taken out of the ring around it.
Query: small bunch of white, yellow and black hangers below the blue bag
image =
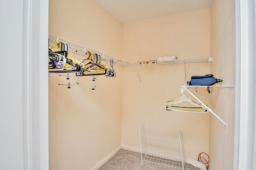
[[[182,102],[187,102],[190,105],[183,106],[180,105]],[[204,103],[207,107],[208,104]],[[200,102],[197,100],[192,99],[189,96],[186,96],[183,94],[180,98],[176,100],[172,100],[167,102],[166,104],[163,105],[165,106],[166,110],[171,110],[171,111],[187,111],[187,112],[208,112],[208,109],[206,109]]]

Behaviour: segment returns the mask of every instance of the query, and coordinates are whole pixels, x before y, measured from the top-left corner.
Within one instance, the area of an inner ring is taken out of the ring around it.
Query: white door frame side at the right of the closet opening
[[[236,0],[234,170],[255,169],[255,1]],[[254,167],[253,167],[254,166]]]

